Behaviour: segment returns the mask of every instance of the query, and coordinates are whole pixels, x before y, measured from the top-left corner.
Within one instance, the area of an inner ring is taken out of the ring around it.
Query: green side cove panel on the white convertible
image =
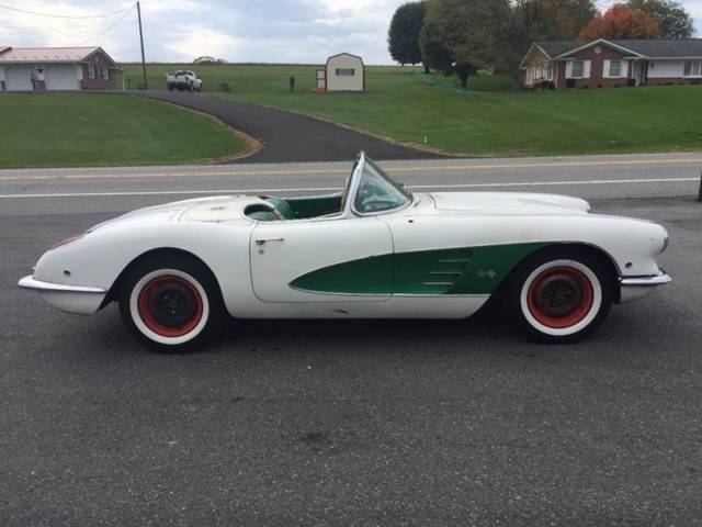
[[[324,267],[291,287],[320,293],[489,294],[546,244],[510,244],[382,255]]]

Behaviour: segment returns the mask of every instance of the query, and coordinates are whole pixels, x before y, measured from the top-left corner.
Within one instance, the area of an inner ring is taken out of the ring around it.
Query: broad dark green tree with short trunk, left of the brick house
[[[508,21],[508,0],[428,0],[422,56],[466,88],[472,72],[499,59]]]

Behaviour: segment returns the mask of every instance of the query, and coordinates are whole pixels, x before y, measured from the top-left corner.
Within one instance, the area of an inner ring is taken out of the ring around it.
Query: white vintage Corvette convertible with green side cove
[[[670,281],[654,223],[577,198],[411,193],[361,153],[343,192],[214,197],[138,210],[48,250],[20,280],[90,314],[111,301],[160,351],[237,318],[462,318],[499,301],[528,335],[574,341]]]

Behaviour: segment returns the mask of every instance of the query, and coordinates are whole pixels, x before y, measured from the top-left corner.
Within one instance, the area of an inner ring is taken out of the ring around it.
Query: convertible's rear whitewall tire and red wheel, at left
[[[203,346],[222,327],[224,303],[212,272],[194,258],[168,255],[128,270],[120,288],[120,313],[131,333],[150,348],[179,354]]]

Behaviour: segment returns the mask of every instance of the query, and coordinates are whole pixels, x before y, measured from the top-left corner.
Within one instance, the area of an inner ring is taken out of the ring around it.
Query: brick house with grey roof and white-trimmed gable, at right
[[[520,69],[528,89],[702,83],[702,38],[535,42]]]

